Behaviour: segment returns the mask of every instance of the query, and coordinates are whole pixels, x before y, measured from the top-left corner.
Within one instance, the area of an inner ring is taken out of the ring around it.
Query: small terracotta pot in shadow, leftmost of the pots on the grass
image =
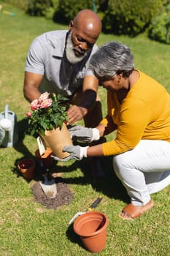
[[[35,161],[34,159],[22,159],[18,163],[18,169],[20,173],[23,174],[23,177],[26,179],[34,178],[35,175]]]

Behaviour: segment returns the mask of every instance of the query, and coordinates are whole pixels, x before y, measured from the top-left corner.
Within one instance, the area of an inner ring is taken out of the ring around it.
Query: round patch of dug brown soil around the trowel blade
[[[62,178],[55,180],[55,184],[57,187],[57,196],[55,198],[48,197],[45,192],[42,191],[42,187],[39,182],[36,181],[34,185],[31,187],[36,203],[41,203],[46,208],[57,209],[60,206],[68,205],[72,202],[74,196],[67,184],[62,181]]]

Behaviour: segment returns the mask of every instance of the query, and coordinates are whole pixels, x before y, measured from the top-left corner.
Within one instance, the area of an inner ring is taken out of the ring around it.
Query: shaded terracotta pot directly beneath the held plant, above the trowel
[[[47,147],[45,150],[45,154],[42,154],[42,156],[39,154],[39,149],[37,149],[35,151],[35,156],[36,159],[39,162],[43,162],[43,164],[45,165],[45,167],[50,167],[53,164],[53,157],[51,157],[51,154],[53,153],[53,151],[51,150],[50,147]]]

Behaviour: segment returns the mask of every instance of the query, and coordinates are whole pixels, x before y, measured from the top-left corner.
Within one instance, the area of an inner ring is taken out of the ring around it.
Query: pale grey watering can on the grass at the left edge
[[[0,113],[0,143],[4,147],[12,147],[17,142],[17,116],[6,105],[4,112]]]

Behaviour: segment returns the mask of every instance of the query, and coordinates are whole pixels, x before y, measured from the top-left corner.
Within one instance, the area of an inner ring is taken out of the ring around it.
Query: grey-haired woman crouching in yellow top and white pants
[[[115,173],[131,197],[120,213],[134,219],[154,205],[150,194],[170,184],[170,95],[134,69],[134,56],[119,42],[102,45],[89,69],[107,89],[107,116],[96,128],[72,127],[74,138],[91,142],[117,130],[115,140],[96,146],[66,146],[66,159],[113,156]],[[57,159],[57,158],[55,158]]]

